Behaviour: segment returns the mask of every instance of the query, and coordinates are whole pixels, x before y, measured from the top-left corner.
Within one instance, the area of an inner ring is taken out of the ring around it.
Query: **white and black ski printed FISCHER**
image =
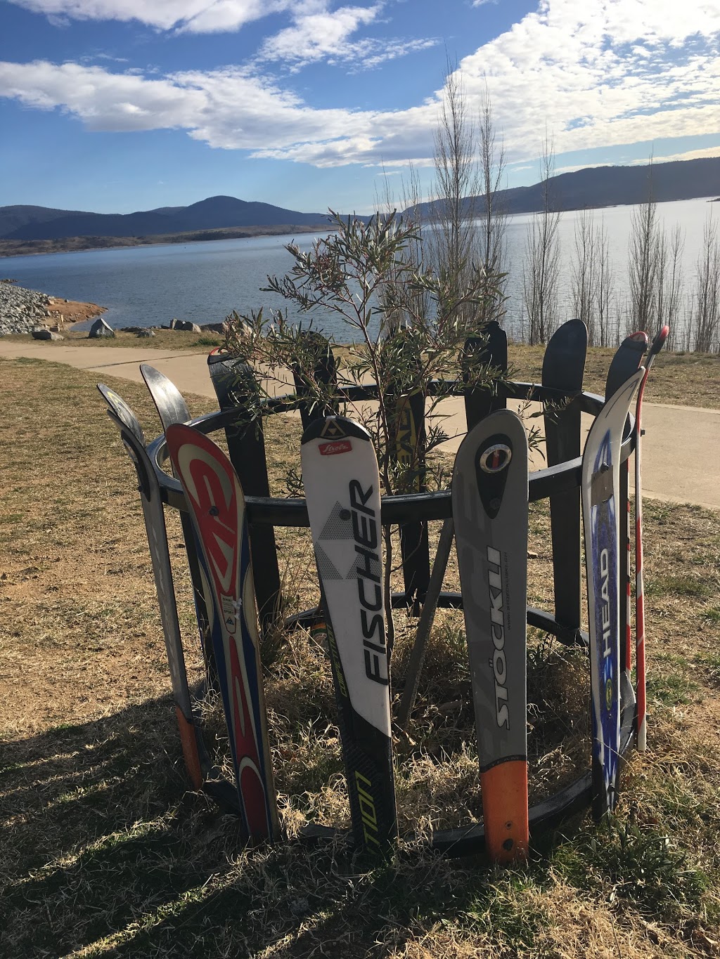
[[[377,459],[370,433],[328,416],[303,433],[301,460],[352,831],[380,852],[397,824]]]

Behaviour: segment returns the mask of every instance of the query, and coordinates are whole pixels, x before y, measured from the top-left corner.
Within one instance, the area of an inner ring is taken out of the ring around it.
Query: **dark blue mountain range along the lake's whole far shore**
[[[649,195],[659,202],[720,195],[720,156],[697,160],[654,163],[649,166],[594,167],[560,174],[547,181],[555,209],[641,203]],[[477,200],[478,198],[475,198]],[[496,200],[507,213],[531,213],[542,208],[543,183],[499,192]],[[472,200],[468,200],[468,204]],[[437,209],[437,207],[436,207]],[[421,203],[419,213],[432,216],[433,204]],[[363,218],[366,219],[366,218]],[[153,237],[161,242],[169,234],[263,227],[295,228],[327,225],[324,213],[299,213],[270,203],[248,202],[234,197],[209,197],[190,206],[163,206],[136,213],[88,213],[55,210],[44,206],[0,207],[0,242],[58,241],[71,237]],[[215,239],[206,237],[193,239]],[[10,246],[10,245],[8,245]]]

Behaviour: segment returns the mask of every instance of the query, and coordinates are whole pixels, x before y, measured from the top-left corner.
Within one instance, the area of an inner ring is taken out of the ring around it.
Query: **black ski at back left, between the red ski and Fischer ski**
[[[214,349],[207,369],[220,409],[235,410],[237,419],[225,428],[228,454],[243,490],[248,496],[270,496],[265,435],[262,417],[248,422],[243,410],[253,403],[254,372],[242,358]],[[273,526],[252,526],[252,561],[257,582],[257,606],[263,629],[272,628],[281,608],[280,573]]]

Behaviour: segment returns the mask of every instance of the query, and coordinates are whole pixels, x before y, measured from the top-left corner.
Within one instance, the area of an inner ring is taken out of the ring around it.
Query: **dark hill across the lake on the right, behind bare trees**
[[[648,198],[650,167],[587,167],[548,180],[555,209],[642,203]],[[654,163],[653,198],[658,202],[720,195],[720,156],[700,160]],[[480,198],[474,198],[480,199]],[[498,199],[507,213],[533,213],[542,209],[542,183],[501,190]],[[420,203],[423,216],[432,216],[432,203]]]

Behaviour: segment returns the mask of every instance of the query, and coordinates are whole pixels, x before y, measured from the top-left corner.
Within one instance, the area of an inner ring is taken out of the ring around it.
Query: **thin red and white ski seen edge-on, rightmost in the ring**
[[[658,336],[653,340],[645,364],[645,375],[637,390],[636,401],[636,447],[635,447],[635,576],[636,576],[636,698],[637,698],[637,749],[644,753],[647,749],[647,695],[645,678],[645,596],[642,573],[642,397],[645,393],[650,367],[660,353],[662,346],[670,333],[668,326],[663,326]]]

